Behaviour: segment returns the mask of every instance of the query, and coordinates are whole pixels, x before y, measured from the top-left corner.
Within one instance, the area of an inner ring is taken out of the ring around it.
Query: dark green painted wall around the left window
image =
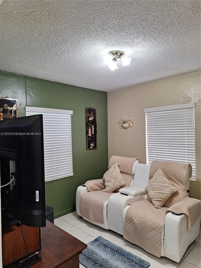
[[[46,204],[53,206],[54,218],[75,211],[79,185],[102,178],[108,167],[107,93],[0,71],[0,97],[18,99],[18,116],[25,106],[73,110],[72,177],[45,184]],[[86,150],[86,107],[96,108],[97,150]]]

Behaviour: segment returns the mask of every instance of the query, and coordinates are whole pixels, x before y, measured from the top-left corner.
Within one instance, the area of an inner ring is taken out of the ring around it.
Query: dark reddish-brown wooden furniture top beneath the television
[[[41,227],[42,260],[31,268],[55,268],[81,253],[87,245],[69,233],[46,220],[46,227]],[[17,265],[12,266],[18,267]]]

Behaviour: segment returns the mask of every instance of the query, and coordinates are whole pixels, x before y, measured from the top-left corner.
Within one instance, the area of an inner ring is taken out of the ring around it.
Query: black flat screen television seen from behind
[[[40,114],[0,121],[2,225],[16,219],[46,226],[42,120]]]

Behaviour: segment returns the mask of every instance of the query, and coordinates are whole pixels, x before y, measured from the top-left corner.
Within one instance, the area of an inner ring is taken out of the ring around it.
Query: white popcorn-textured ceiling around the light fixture
[[[0,0],[0,70],[111,91],[200,70],[200,1]],[[111,71],[103,57],[131,63]]]

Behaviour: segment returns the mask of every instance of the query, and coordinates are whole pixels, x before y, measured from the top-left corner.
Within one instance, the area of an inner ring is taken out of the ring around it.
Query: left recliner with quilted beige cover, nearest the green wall
[[[108,172],[119,163],[118,169],[123,177],[124,185],[115,189],[115,181],[107,184],[110,192],[106,191],[106,179],[94,179],[87,181],[84,185],[79,186],[76,191],[76,212],[84,220],[98,225],[104,229],[108,228],[107,222],[107,203],[111,195],[118,193],[122,187],[129,187],[133,181],[136,164],[139,163],[137,158],[124,156],[111,156],[108,166]],[[105,173],[106,174],[106,173]],[[104,174],[104,176],[105,176]],[[110,173],[110,176],[113,172]]]

